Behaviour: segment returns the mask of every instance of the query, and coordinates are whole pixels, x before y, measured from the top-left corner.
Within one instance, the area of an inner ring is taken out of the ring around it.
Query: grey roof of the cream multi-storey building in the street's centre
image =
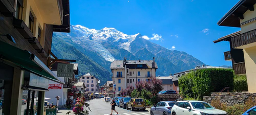
[[[146,64],[148,68],[152,68],[152,62],[153,60],[127,60],[126,64]],[[124,68],[123,67],[123,60],[115,60],[110,65],[111,69],[118,69],[118,68]],[[157,63],[155,62],[155,68],[158,68]]]

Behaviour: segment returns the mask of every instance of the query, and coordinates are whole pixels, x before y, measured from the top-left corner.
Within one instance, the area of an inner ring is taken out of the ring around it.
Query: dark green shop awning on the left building
[[[34,54],[16,48],[8,43],[0,41],[0,58],[4,61],[9,61],[20,68],[36,74],[40,77],[44,77],[51,81],[64,84],[58,77]]]

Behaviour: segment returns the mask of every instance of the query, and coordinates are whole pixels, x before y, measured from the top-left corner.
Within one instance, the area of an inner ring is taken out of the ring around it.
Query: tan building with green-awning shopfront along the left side
[[[43,114],[49,81],[63,84],[48,56],[53,32],[70,32],[69,0],[0,1],[0,18],[1,114]]]

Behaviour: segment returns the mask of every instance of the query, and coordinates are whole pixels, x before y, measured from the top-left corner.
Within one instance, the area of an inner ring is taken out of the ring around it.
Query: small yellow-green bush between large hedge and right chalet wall
[[[248,91],[246,75],[234,76],[234,90],[233,91]]]

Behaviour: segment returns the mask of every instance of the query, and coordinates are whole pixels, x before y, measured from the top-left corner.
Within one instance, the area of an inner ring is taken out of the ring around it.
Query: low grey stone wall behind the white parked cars
[[[203,100],[210,103],[211,100],[219,99],[228,106],[234,104],[244,104],[248,98],[256,98],[256,93],[211,93],[211,96],[204,96]]]

